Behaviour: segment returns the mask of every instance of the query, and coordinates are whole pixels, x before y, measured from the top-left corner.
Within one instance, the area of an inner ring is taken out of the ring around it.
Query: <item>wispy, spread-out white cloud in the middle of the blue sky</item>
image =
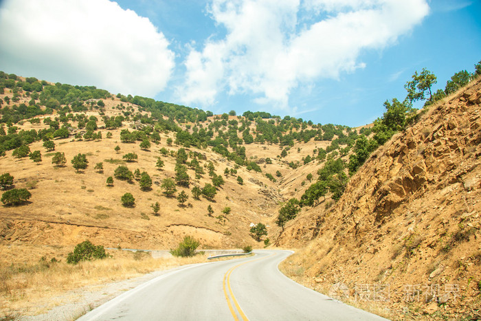
[[[428,12],[425,0],[214,0],[210,14],[226,36],[191,49],[177,93],[208,106],[227,89],[287,107],[292,89],[365,67],[363,50],[394,44]],[[301,25],[300,14],[313,22]]]

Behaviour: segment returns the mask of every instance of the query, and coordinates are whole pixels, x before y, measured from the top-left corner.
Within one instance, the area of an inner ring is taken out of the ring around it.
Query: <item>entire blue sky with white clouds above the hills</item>
[[[0,70],[223,113],[360,126],[481,60],[477,0],[6,0]]]

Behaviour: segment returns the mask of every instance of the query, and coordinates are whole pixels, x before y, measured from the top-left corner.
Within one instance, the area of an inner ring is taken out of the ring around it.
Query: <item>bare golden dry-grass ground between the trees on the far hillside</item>
[[[17,82],[22,80],[25,78],[19,77]],[[0,98],[6,101],[13,96],[12,90],[5,89]],[[10,100],[10,106],[29,104],[31,99],[25,91],[17,97],[16,103]],[[183,236],[191,235],[199,239],[204,249],[239,248],[245,245],[262,247],[264,243],[256,242],[249,235],[251,224],[266,224],[269,232],[267,237],[275,239],[280,232],[274,223],[278,208],[283,201],[302,194],[306,175],[315,173],[320,164],[311,162],[293,170],[289,163],[302,164],[306,155],[315,157],[313,153],[317,152],[317,148],[331,144],[330,141],[315,140],[297,142],[282,158],[279,155],[283,147],[279,144],[245,144],[245,157],[248,162],[258,164],[262,170],[258,172],[238,166],[223,155],[214,153],[211,146],[184,148],[175,143],[175,131],[160,131],[160,141],[152,142],[149,148],[141,148],[138,141],[122,142],[122,131],[142,130],[146,125],[131,118],[125,120],[118,129],[106,129],[102,126],[102,118],[123,116],[125,111],[148,118],[150,112],[114,96],[100,100],[104,102],[101,109],[89,107],[86,111],[69,113],[70,135],[53,140],[54,151],[46,151],[42,140],[28,145],[30,151],[41,151],[42,161],[38,164],[29,157],[14,157],[12,150],[0,157],[0,174],[10,173],[14,177],[12,188],[26,188],[32,194],[29,201],[21,206],[1,207],[0,237],[3,243],[72,247],[89,239],[105,247],[159,250],[175,247]],[[89,102],[96,103],[97,100]],[[41,108],[45,110],[45,107]],[[49,129],[46,118],[58,120],[61,114],[54,110],[53,115],[38,115],[34,118],[36,122],[23,120],[14,124],[14,127],[17,133],[32,130],[40,133]],[[100,133],[102,139],[82,140],[77,137],[86,133],[76,120],[79,114],[85,115],[87,120],[92,117],[98,119],[98,129],[94,133]],[[220,119],[220,115],[212,115],[203,122],[177,124],[193,133],[192,126],[207,129]],[[229,122],[243,119],[234,115],[227,118]],[[256,137],[255,128],[254,123],[249,125]],[[311,128],[308,126],[307,129]],[[4,130],[7,129],[10,126]],[[294,131],[300,132],[301,129]],[[107,134],[111,137],[107,137]],[[214,137],[218,136],[216,131]],[[238,137],[242,137],[242,133],[239,132]],[[115,151],[115,146],[119,146],[120,150]],[[166,155],[160,153],[163,148],[168,151]],[[189,162],[194,158],[198,160],[204,173],[197,178],[194,168],[187,166],[189,186],[176,186],[175,195],[166,197],[161,184],[164,179],[175,179],[176,155],[180,148],[186,151]],[[232,148],[229,149],[232,151]],[[52,157],[58,152],[65,153],[65,166],[52,164]],[[89,163],[87,168],[76,171],[71,159],[78,153],[85,154]],[[123,158],[128,153],[135,153],[138,158],[128,162]],[[159,158],[164,162],[164,167],[160,169],[156,167]],[[191,191],[194,186],[203,188],[205,184],[212,184],[206,168],[210,162],[214,164],[216,175],[221,175],[225,184],[216,188],[217,193],[212,201],[203,196],[195,199]],[[95,169],[98,163],[102,163],[103,170]],[[153,181],[152,188],[142,190],[135,179],[130,182],[115,179],[114,171],[118,166],[127,166],[132,172],[137,169],[141,173],[145,171]],[[227,175],[226,169],[229,170]],[[275,175],[277,172],[279,175]],[[275,179],[269,179],[266,174],[271,174]],[[113,186],[106,184],[107,177],[114,177]],[[238,177],[243,179],[243,184],[238,183]],[[301,184],[302,181],[304,184]],[[135,197],[135,206],[122,206],[121,197],[126,192]],[[183,205],[176,198],[181,192],[186,192],[189,197]],[[151,208],[156,202],[160,205],[157,216]],[[208,206],[214,210],[212,214],[209,214]],[[231,212],[224,221],[218,217],[223,214],[225,207],[229,207]]]

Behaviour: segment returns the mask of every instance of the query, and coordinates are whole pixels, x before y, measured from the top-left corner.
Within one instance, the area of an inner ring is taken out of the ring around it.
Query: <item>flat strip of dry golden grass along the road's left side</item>
[[[1,246],[2,250],[6,246]],[[30,249],[32,250],[32,249]],[[45,249],[44,249],[45,250]],[[66,249],[59,248],[65,253]],[[2,251],[8,257],[8,251]],[[42,251],[40,251],[42,252]],[[192,258],[152,258],[148,252],[126,252],[110,250],[111,258],[81,262],[78,265],[65,263],[65,259],[42,256],[29,261],[0,261],[0,315],[11,311],[36,307],[36,302],[45,302],[46,296],[53,298],[63,292],[87,285],[103,285],[118,280],[141,276],[156,270],[165,270],[180,265],[207,261],[206,255]],[[20,255],[22,256],[22,255]],[[52,262],[53,261],[53,262]],[[51,307],[56,305],[51,303]]]

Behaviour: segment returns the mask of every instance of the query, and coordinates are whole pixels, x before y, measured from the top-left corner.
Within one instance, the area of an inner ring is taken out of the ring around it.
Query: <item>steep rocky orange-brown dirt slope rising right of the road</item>
[[[346,300],[402,318],[476,315],[480,100],[478,80],[436,104],[374,152],[333,208],[320,203],[304,212],[278,241],[313,241],[284,268],[297,266],[306,285],[324,291],[342,285]]]

